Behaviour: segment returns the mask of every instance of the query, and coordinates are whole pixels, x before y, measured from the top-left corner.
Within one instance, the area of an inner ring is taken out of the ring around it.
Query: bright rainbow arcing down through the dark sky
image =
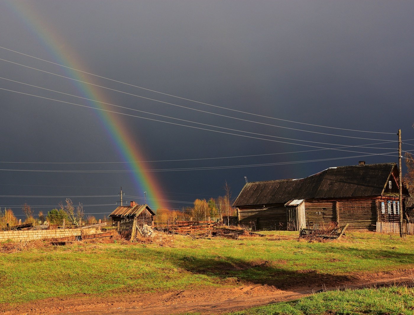
[[[31,7],[30,2],[22,3],[10,1],[6,3],[9,5],[10,10],[24,21],[27,29],[29,29],[34,36],[38,38],[39,42],[41,42],[41,44],[49,51],[54,58],[54,62],[70,68],[82,69],[82,71],[87,72],[87,67],[82,64],[81,58],[71,49],[70,45],[65,43],[64,39],[59,36],[55,28],[46,24],[45,19],[41,17],[34,7]],[[94,84],[89,77],[86,79],[81,72],[68,68],[63,69],[65,69],[66,75],[73,79],[88,81],[89,83]],[[73,82],[76,82],[75,85],[78,91],[83,94],[83,97],[97,100],[98,102],[111,103],[99,88],[78,81]],[[111,110],[111,108],[109,108],[110,105],[92,101],[88,102],[94,107]],[[137,145],[138,139],[136,136],[132,136],[129,130],[125,127],[125,123],[120,119],[120,115],[103,110],[94,110],[94,112],[96,112],[97,118],[107,131],[108,137],[111,139],[113,145],[118,149],[118,152],[125,162],[128,162],[127,165],[130,170],[137,170],[136,172],[130,173],[132,174],[136,191],[130,191],[128,193],[144,196],[144,191],[146,191],[147,203],[153,210],[166,208],[166,205],[163,203],[165,198],[161,195],[162,189],[160,189],[154,173],[142,171],[144,169],[149,169],[149,167],[145,162],[140,162],[145,161],[145,158],[142,149]]]

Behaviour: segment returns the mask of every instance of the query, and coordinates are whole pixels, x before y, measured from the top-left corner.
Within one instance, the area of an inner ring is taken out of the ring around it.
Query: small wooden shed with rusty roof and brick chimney
[[[137,205],[131,201],[127,207],[120,206],[109,215],[114,222],[132,221],[137,218],[137,224],[154,226],[155,212],[148,205]]]

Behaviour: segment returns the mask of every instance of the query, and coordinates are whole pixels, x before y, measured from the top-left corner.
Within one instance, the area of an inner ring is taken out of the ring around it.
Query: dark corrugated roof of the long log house
[[[395,163],[340,166],[303,179],[246,183],[233,205],[240,207],[286,203],[293,199],[381,196],[395,167]]]

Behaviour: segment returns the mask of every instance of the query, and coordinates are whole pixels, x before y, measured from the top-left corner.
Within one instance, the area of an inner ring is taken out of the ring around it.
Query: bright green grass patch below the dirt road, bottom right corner
[[[274,303],[227,315],[412,315],[414,288],[328,291],[291,302]]]

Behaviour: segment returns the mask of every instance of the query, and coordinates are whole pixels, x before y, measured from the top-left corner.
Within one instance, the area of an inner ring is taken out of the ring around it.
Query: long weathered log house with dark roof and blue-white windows
[[[288,229],[337,222],[374,230],[376,222],[399,222],[399,169],[395,163],[330,167],[303,179],[246,183],[233,206],[240,224]],[[409,198],[405,186],[404,199]]]

